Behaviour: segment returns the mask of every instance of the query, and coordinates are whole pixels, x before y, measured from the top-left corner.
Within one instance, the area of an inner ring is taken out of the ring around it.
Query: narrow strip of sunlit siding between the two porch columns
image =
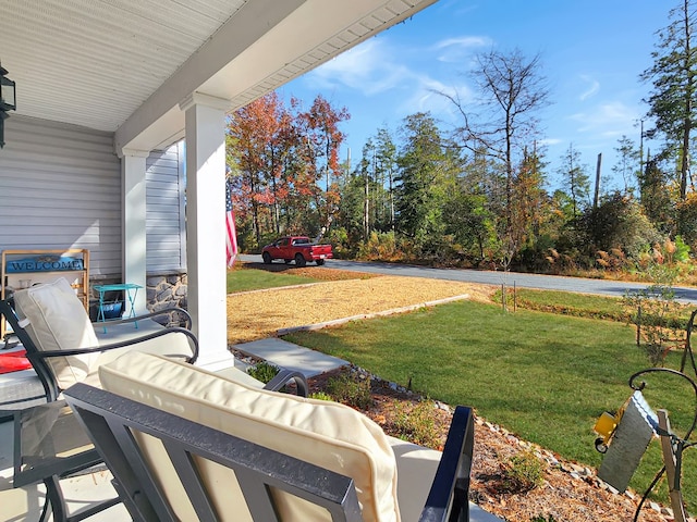
[[[154,151],[146,160],[147,271],[181,272],[186,266],[183,145]]]

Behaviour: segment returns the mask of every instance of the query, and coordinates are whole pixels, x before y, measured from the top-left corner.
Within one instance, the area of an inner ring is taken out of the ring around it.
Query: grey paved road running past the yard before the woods
[[[242,261],[261,262],[261,256],[240,256]],[[278,262],[278,261],[277,261]],[[431,269],[427,266],[414,266],[392,263],[375,263],[363,261],[344,261],[330,259],[326,266],[338,270],[352,270],[356,272],[370,272],[386,275],[404,275],[411,277],[430,277],[437,279],[462,281],[467,283],[480,283],[485,285],[509,286],[515,284],[521,288],[539,288],[546,290],[577,291],[583,294],[599,294],[606,296],[622,297],[627,290],[637,290],[647,285],[641,283],[624,283],[621,281],[587,279],[583,277],[561,277],[555,275],[522,274],[517,272]],[[697,304],[697,288],[676,287],[675,294],[682,302]]]

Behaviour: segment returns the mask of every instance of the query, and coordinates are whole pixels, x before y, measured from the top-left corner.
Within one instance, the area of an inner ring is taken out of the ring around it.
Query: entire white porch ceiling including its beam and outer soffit
[[[243,107],[435,1],[0,0],[0,61],[16,113],[149,150],[192,92]]]

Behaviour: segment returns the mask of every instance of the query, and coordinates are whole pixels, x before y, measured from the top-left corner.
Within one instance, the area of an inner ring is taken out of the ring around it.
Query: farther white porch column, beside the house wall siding
[[[123,149],[121,159],[121,179],[123,188],[123,283],[140,285],[135,298],[136,313],[147,311],[146,291],[146,204],[145,204],[145,159],[149,151]],[[127,316],[131,303],[125,298],[124,306]]]

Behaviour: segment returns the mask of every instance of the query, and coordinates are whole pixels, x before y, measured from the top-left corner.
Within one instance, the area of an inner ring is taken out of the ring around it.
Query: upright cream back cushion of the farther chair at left
[[[64,277],[14,294],[17,315],[28,319],[27,334],[41,351],[95,348],[98,345],[89,316]],[[99,353],[47,359],[62,389],[83,381]]]

